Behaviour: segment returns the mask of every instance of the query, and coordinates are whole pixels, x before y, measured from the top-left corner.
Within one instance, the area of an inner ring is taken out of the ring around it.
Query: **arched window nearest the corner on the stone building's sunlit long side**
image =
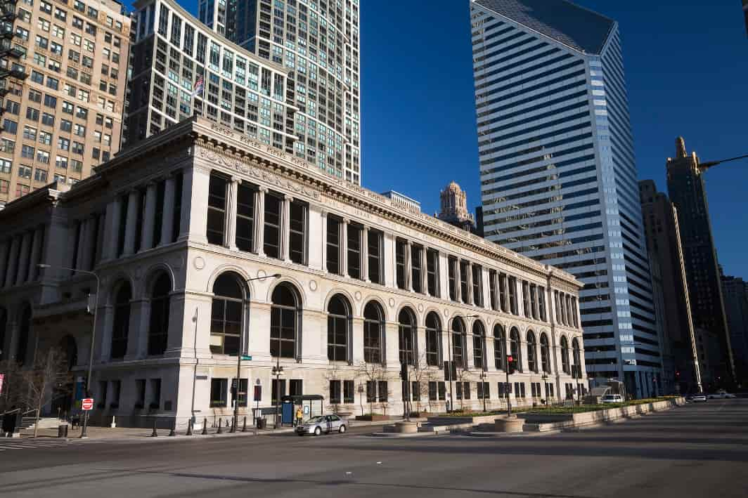
[[[239,354],[239,348],[242,347],[244,304],[242,277],[227,272],[215,279],[210,317],[211,353]]]

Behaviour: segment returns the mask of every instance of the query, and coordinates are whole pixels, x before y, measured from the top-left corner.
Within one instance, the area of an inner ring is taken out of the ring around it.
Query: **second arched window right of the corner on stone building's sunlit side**
[[[301,298],[290,283],[278,284],[273,290],[270,312],[270,354],[281,358],[296,357]]]

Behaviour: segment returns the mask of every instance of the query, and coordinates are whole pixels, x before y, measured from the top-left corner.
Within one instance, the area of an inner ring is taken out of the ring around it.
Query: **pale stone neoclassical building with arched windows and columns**
[[[60,268],[93,271],[98,292]],[[586,384],[570,274],[202,118],[8,204],[0,287],[3,357],[28,366],[60,345],[81,385],[96,308],[93,417],[120,425],[227,418],[239,353],[248,416],[276,391],[399,414],[403,393],[443,411]],[[48,408],[76,411],[71,398]]]

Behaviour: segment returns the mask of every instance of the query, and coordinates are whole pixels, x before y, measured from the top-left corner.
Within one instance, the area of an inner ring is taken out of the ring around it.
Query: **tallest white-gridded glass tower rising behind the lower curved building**
[[[198,16],[286,67],[298,107],[294,155],[361,185],[358,0],[200,0]]]

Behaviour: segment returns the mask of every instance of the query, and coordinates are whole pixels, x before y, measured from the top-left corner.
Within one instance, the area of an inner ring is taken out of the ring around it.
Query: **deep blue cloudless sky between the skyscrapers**
[[[479,204],[468,0],[361,1],[363,184],[438,209],[455,180]],[[748,153],[748,37],[740,0],[578,0],[619,22],[641,179],[666,191],[675,137],[704,160]],[[186,0],[192,13],[196,0]],[[748,161],[707,173],[726,273],[748,277]]]

